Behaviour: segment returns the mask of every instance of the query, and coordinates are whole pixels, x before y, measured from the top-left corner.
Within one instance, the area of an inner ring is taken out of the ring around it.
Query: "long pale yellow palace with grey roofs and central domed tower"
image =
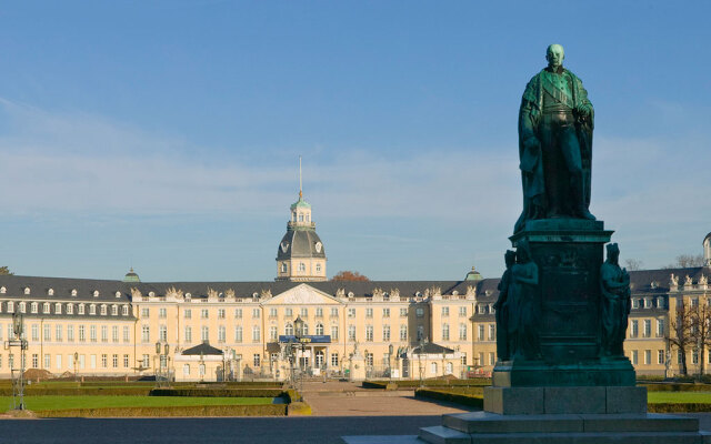
[[[679,373],[671,320],[682,301],[711,306],[710,243],[711,233],[705,266],[630,272],[625,350],[639,373]],[[361,356],[363,377],[462,377],[493,369],[498,279],[472,269],[461,281],[327,281],[326,265],[300,191],[273,282],[143,282],[132,269],[116,281],[2,275],[0,341],[14,339],[13,315],[22,314],[26,369],[53,375],[284,380],[297,365],[352,377]],[[20,369],[21,356],[6,346],[0,376]],[[704,359],[711,366],[708,350],[689,347],[684,356],[690,372]]]

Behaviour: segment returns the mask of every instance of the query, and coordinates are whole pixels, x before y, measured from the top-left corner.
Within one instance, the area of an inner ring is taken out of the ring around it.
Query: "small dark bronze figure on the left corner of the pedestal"
[[[538,265],[525,239],[517,245],[508,289],[509,353],[513,359],[540,359],[537,324],[540,319]]]

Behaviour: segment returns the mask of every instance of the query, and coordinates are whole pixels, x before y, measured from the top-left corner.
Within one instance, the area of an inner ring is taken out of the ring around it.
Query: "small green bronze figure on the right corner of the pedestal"
[[[618,261],[620,249],[617,243],[608,244],[608,260],[600,268],[602,290],[602,354],[624,356],[622,343],[627,334],[627,319],[630,314],[630,275]]]

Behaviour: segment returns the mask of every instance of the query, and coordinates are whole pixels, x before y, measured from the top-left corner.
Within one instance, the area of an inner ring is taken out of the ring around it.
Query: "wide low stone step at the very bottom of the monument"
[[[665,414],[443,415],[441,426],[420,430],[431,444],[711,444],[695,417]]]

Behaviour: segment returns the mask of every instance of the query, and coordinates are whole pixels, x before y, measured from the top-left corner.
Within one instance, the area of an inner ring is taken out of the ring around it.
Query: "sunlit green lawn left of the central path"
[[[29,410],[163,407],[190,405],[261,405],[272,397],[188,397],[188,396],[24,396]],[[0,396],[0,411],[12,407],[11,396]]]

